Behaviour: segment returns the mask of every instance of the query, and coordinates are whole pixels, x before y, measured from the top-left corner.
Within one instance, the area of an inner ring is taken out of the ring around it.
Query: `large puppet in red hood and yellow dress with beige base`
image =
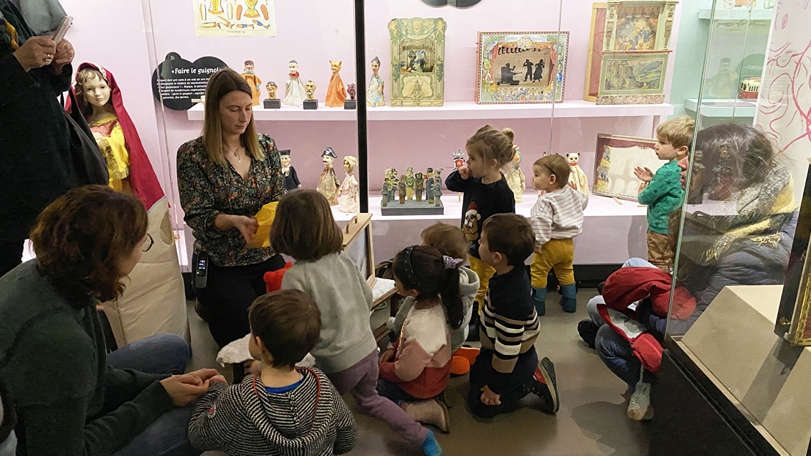
[[[148,213],[147,234],[152,243],[128,274],[127,290],[103,304],[118,346],[158,333],[188,340],[186,295],[169,202],[124,109],[113,74],[92,63],[79,65],[65,109],[78,109],[88,120],[107,161],[109,186],[137,196]]]

